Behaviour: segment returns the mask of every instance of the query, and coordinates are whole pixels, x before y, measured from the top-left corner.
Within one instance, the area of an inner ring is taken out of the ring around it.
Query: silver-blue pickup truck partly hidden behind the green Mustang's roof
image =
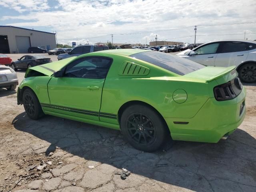
[[[58,55],[58,60],[66,59],[69,57],[80,56],[82,54],[96,52],[96,51],[103,51],[109,50],[108,46],[106,45],[80,45],[75,47],[72,51],[64,54]]]

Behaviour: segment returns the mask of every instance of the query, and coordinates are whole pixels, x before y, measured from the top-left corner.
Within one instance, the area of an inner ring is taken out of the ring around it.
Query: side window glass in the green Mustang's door
[[[64,76],[73,78],[104,79],[112,59],[90,57],[78,59],[66,67]]]

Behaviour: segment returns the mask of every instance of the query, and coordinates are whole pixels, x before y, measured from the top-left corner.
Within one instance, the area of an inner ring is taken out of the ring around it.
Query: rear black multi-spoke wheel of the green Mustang
[[[124,137],[134,148],[146,152],[159,149],[170,136],[162,118],[152,108],[140,104],[124,110],[120,127]]]

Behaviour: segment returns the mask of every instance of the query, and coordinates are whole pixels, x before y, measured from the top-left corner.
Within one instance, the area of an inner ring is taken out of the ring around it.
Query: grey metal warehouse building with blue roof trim
[[[0,26],[0,53],[27,53],[29,47],[56,48],[55,33]]]

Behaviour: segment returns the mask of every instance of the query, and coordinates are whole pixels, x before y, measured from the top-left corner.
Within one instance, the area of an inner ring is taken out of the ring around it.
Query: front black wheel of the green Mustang
[[[22,96],[24,109],[31,119],[37,120],[44,115],[42,107],[36,94],[30,89],[26,89]]]

